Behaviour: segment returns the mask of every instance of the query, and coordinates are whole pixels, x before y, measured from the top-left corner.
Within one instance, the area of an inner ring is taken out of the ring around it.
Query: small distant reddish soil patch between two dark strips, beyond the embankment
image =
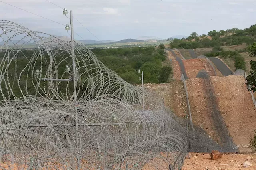
[[[190,79],[196,78],[196,75],[202,69],[207,71],[209,75],[214,76],[214,70],[206,59],[188,59],[184,60],[183,63]]]

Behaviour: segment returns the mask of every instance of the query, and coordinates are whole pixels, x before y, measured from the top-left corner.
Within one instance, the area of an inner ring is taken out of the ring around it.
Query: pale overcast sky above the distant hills
[[[191,32],[248,28],[256,23],[256,0],[1,0],[61,24],[73,15],[100,40],[122,40],[139,36],[165,39]],[[64,26],[0,2],[0,16],[30,30],[69,36]],[[74,20],[74,31],[83,39],[97,40]],[[75,39],[82,39],[75,34]]]

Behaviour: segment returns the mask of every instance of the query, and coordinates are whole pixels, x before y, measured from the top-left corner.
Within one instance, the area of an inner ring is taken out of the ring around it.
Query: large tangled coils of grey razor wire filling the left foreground
[[[0,169],[180,170],[189,150],[221,149],[188,132],[156,92],[144,89],[143,110],[142,89],[83,44],[74,42],[75,102],[72,81],[52,80],[69,79],[71,41],[6,20],[0,31]]]

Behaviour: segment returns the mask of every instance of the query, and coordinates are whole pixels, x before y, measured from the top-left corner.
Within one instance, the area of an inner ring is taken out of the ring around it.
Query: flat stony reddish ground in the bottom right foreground
[[[211,160],[210,154],[189,153],[182,170],[256,170],[256,154],[224,154],[220,160]],[[250,168],[242,168],[247,156],[253,157]]]

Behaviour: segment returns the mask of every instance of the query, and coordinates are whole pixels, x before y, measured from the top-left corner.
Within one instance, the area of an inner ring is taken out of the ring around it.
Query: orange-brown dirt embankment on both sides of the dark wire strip
[[[246,89],[244,77],[230,75],[211,77],[218,107],[235,144],[249,144],[256,130],[256,109],[252,97]],[[200,78],[187,80],[190,109],[193,123],[204,129],[211,138],[215,133],[207,114],[207,95]]]

